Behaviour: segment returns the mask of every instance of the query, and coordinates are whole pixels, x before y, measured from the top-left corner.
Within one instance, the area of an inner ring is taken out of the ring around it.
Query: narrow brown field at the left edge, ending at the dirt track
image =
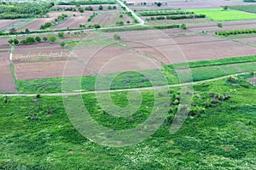
[[[0,80],[0,92],[17,92],[9,63],[9,48],[0,49]]]

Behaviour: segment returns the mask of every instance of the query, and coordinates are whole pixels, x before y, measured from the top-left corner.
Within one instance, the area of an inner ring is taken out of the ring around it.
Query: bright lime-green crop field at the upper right
[[[256,19],[256,14],[246,13],[237,10],[224,10],[223,8],[200,8],[190,9],[195,14],[206,14],[208,19],[211,20],[252,20]]]

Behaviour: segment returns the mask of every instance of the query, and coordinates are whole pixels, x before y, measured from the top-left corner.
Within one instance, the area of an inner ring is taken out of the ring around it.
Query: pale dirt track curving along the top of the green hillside
[[[130,92],[130,91],[138,91],[138,90],[156,90],[161,88],[177,88],[177,87],[184,87],[184,86],[191,86],[196,85],[204,82],[214,82],[218,80],[223,80],[228,77],[232,76],[240,76],[240,75],[246,75],[250,72],[244,72],[239,74],[232,74],[224,77],[217,77],[212,78],[208,80],[198,81],[198,82],[185,82],[181,84],[173,84],[173,85],[166,85],[166,86],[158,86],[158,87],[148,87],[148,88],[124,88],[124,89],[114,89],[114,90],[101,90],[101,91],[89,91],[89,92],[71,92],[71,93],[61,93],[61,94],[40,94],[41,96],[72,96],[72,95],[81,95],[81,94],[107,94],[107,93],[115,93],[115,92]],[[0,96],[6,96],[6,97],[32,97],[36,94],[0,94]]]

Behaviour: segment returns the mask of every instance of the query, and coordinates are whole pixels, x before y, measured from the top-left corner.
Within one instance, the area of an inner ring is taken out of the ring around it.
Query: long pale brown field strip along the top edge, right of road
[[[143,2],[143,1],[132,1],[132,2]],[[145,10],[148,8],[153,8],[153,9],[160,9],[160,8],[184,8],[184,9],[189,9],[189,8],[219,8],[220,6],[224,5],[249,5],[248,3],[243,3],[243,2],[234,2],[234,1],[225,1],[225,0],[218,0],[218,1],[212,1],[212,0],[198,0],[198,1],[191,1],[189,0],[188,2],[182,1],[178,2],[177,0],[169,0],[169,1],[156,1],[156,2],[161,2],[162,5],[160,7],[157,7],[156,5],[152,5],[155,1],[147,1],[148,5],[131,5],[129,6],[132,9],[137,9],[137,10]],[[167,4],[166,4],[167,3]]]

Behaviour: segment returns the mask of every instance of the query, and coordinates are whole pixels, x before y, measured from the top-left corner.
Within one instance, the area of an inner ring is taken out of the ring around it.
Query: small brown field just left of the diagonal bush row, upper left
[[[55,20],[55,18],[53,18],[53,17],[34,19],[34,20],[32,20],[32,22],[30,22],[26,26],[23,26],[18,31],[25,31],[26,28],[30,31],[38,31],[38,30],[40,30],[40,26],[44,25],[46,22],[52,22],[54,20]]]

